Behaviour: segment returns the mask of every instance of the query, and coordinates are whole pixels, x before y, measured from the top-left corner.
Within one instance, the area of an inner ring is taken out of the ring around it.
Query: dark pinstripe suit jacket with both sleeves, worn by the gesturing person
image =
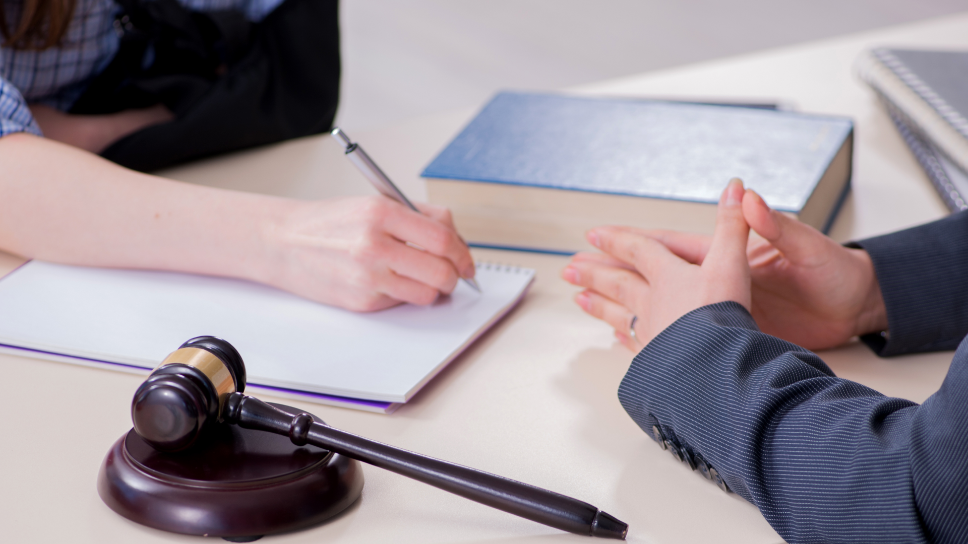
[[[964,336],[968,268],[935,271],[968,257],[966,217],[861,243],[891,313],[881,352],[953,348]],[[910,293],[898,290],[912,285],[905,279],[917,279]],[[836,378],[816,354],[763,334],[724,302],[653,339],[619,399],[650,436],[655,425],[687,461],[715,468],[788,542],[968,542],[964,343],[941,389],[918,406]]]

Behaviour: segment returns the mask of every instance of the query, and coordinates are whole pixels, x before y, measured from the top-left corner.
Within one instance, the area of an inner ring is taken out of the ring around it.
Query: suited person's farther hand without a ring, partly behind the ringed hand
[[[764,332],[804,348],[823,349],[887,329],[884,299],[866,252],[845,248],[813,227],[771,210],[752,191],[743,196],[742,210],[747,224],[759,234],[750,238],[747,257],[751,313]],[[695,264],[704,262],[711,247],[709,236],[633,231]],[[580,254],[572,265],[586,260],[619,264],[606,259]],[[617,333],[622,331],[627,331],[627,325],[617,328]]]

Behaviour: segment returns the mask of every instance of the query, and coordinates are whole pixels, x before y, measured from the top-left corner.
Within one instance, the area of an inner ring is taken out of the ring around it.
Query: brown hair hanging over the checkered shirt
[[[3,46],[15,49],[46,49],[58,45],[74,16],[76,0],[22,0],[20,20],[12,28],[7,22],[8,2],[0,5],[0,34]]]

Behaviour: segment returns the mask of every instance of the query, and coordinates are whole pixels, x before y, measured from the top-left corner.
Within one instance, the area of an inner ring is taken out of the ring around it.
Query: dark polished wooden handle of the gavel
[[[242,393],[228,396],[223,419],[245,429],[287,436],[296,445],[312,444],[386,468],[555,529],[620,540],[628,531],[626,524],[588,502],[340,431],[313,421],[308,413],[290,416]]]

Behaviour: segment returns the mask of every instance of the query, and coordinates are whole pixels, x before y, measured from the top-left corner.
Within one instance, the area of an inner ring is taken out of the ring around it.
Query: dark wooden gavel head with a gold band
[[[199,336],[171,352],[135,392],[135,432],[160,451],[195,443],[219,419],[229,394],[245,389],[245,364],[221,338]]]

